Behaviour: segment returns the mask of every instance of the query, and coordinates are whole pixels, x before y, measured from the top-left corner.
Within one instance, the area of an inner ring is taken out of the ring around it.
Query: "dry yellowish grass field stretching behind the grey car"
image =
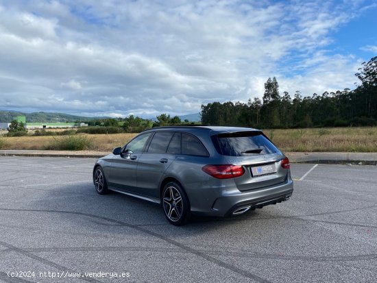
[[[377,127],[265,130],[282,151],[377,152]],[[111,151],[125,145],[136,134],[92,134],[84,136],[88,148]],[[0,149],[53,149],[64,136],[1,137]]]

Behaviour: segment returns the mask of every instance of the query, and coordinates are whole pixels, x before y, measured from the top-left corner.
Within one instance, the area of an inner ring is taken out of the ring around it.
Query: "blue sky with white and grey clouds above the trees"
[[[377,3],[0,0],[0,109],[200,112],[212,101],[354,88],[377,56]]]

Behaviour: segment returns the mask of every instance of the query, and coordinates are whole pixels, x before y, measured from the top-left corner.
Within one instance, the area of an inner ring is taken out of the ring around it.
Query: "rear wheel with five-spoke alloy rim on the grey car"
[[[186,193],[176,182],[169,182],[162,190],[162,210],[167,220],[175,225],[186,224],[190,219],[190,202]]]

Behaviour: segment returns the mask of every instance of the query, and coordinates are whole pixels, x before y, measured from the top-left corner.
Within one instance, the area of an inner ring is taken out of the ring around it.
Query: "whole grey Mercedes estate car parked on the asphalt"
[[[145,130],[99,158],[93,182],[101,195],[113,190],[160,204],[173,225],[191,214],[243,214],[293,193],[289,159],[247,127]]]

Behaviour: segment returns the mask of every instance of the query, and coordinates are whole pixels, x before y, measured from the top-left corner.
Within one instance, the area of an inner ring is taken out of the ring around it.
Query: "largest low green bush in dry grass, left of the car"
[[[62,136],[54,138],[46,149],[84,150],[93,148],[93,141],[87,136]]]

